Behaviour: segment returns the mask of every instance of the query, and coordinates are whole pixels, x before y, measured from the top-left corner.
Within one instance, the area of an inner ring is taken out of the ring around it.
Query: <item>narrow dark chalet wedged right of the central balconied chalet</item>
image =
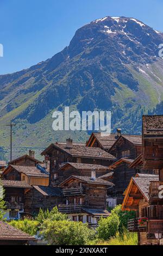
[[[114,183],[115,186],[108,190],[108,206],[115,207],[117,204],[122,204],[123,202],[123,192],[126,190],[130,179],[135,176],[135,170],[129,168],[129,165],[134,160],[131,159],[120,159],[111,166],[109,166],[110,172],[101,176],[101,179],[105,179]]]

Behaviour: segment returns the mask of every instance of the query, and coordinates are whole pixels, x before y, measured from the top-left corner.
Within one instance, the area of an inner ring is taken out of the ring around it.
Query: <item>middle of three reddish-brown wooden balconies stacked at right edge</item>
[[[163,186],[163,181],[151,181],[149,186],[149,201],[151,204],[163,204],[163,199],[159,198],[160,186]]]

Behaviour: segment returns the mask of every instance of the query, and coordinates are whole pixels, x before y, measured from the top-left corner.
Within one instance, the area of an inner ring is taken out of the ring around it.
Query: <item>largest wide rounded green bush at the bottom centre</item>
[[[86,245],[94,238],[95,231],[82,222],[46,220],[40,234],[49,245]]]

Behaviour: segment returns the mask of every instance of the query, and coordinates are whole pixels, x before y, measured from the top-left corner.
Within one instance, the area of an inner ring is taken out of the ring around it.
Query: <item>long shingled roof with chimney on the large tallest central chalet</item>
[[[115,156],[107,153],[101,148],[90,148],[84,145],[75,145],[72,144],[72,148],[67,148],[66,144],[55,143],[51,144],[47,149],[45,149],[41,155],[48,154],[53,148],[66,152],[67,154],[73,157],[86,157],[93,159],[107,159],[107,160],[116,160]]]

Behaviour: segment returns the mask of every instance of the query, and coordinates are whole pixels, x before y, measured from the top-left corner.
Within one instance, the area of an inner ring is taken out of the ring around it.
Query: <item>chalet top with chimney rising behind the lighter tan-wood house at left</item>
[[[36,166],[37,164],[43,164],[43,162],[35,159],[35,152],[29,150],[29,155],[20,156],[10,161],[8,164],[14,164],[16,166]]]

